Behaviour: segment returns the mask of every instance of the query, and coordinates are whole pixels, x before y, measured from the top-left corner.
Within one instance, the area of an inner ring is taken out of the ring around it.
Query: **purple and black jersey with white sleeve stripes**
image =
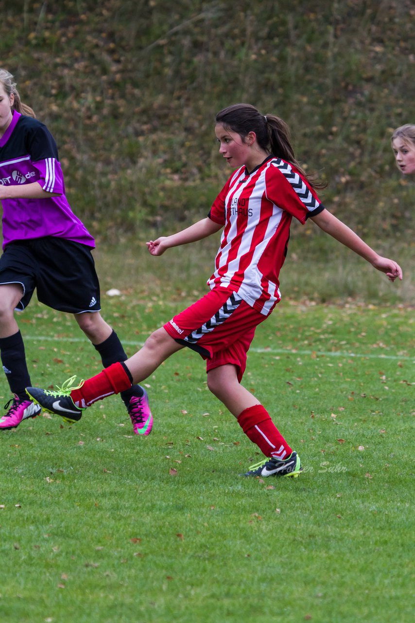
[[[73,214],[65,196],[65,183],[54,137],[37,119],[13,111],[11,124],[0,138],[0,184],[37,182],[58,197],[2,199],[3,249],[14,240],[54,236],[88,247],[95,240]]]

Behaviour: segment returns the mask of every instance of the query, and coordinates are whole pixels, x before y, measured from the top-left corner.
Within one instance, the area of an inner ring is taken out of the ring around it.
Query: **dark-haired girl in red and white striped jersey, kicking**
[[[210,292],[154,331],[133,357],[68,390],[67,402],[65,394],[57,401],[56,392],[30,388],[29,394],[58,414],[57,403],[81,411],[108,393],[141,382],[172,353],[188,346],[207,360],[210,391],[266,457],[246,475],[297,476],[301,461],[296,452],[259,399],[241,385],[256,326],[281,298],[279,271],[292,217],[303,224],[312,219],[391,281],[401,279],[402,271],[322,206],[316,194],[321,185],[307,178],[294,158],[284,121],[262,115],[251,105],[236,104],[218,113],[215,134],[221,155],[236,170],[208,216],[176,234],[147,242],[152,255],[162,255],[170,247],[222,230],[215,270],[208,280]]]

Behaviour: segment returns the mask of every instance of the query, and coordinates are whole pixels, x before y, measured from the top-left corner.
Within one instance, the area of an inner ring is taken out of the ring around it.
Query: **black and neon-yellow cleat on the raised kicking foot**
[[[70,387],[75,381],[76,376],[72,376],[70,379],[62,383],[62,387],[56,386],[57,391],[50,391],[49,389],[40,388],[26,388],[26,394],[30,399],[39,404],[44,411],[48,413],[56,414],[62,417],[68,424],[78,422],[82,417],[82,411],[85,407],[77,407],[70,397],[72,389],[79,389],[83,386],[85,381],[81,381],[77,387]]]

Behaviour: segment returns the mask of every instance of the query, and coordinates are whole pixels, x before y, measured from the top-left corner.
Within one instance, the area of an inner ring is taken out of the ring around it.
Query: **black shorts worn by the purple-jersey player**
[[[47,236],[18,240],[0,257],[0,285],[19,283],[24,310],[36,288],[41,303],[59,312],[99,312],[100,282],[91,247],[80,242]]]

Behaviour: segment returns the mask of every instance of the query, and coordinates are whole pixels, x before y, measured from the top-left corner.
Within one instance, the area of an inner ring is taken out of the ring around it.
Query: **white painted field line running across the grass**
[[[87,343],[86,338],[57,338],[45,335],[37,335],[37,336],[24,336],[24,340],[31,341],[48,341],[48,342],[85,342]],[[126,346],[142,346],[143,342],[139,341],[129,341],[122,340],[123,345]],[[295,354],[299,356],[307,356],[313,355],[315,357],[355,357],[361,359],[391,359],[392,361],[413,361],[415,363],[414,357],[409,357],[407,355],[391,355],[391,354],[374,354],[374,353],[344,353],[342,351],[318,351],[318,350],[297,350],[290,348],[255,348],[252,346],[249,348],[249,354],[251,353],[269,353],[269,354]]]

